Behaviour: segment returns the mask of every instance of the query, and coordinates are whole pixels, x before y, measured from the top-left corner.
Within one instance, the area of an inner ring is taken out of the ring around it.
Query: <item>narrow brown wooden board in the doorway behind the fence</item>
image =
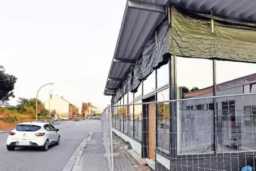
[[[150,98],[150,101],[155,101],[155,97]],[[148,157],[156,161],[156,104],[148,105]]]

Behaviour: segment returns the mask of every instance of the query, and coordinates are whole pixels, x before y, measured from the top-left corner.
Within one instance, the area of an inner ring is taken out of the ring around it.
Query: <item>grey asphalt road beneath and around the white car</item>
[[[54,126],[60,130],[61,143],[46,152],[24,148],[7,151],[5,141],[8,134],[0,134],[0,170],[62,170],[84,136],[100,127],[101,123],[99,120],[64,121]]]

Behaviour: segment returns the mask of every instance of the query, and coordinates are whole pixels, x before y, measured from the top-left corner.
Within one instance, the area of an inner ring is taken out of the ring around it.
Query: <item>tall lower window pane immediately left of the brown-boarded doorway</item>
[[[134,102],[134,135],[136,139],[142,140],[142,100]]]

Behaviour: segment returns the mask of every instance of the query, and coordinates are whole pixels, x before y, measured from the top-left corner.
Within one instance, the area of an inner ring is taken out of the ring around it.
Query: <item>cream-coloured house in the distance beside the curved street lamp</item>
[[[57,117],[61,119],[72,119],[72,104],[65,100],[62,96],[52,96],[50,95],[49,101],[45,102],[45,108],[50,111],[56,110]]]

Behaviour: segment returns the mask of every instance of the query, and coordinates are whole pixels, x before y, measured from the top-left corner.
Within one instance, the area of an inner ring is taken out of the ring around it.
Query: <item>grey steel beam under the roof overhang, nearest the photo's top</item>
[[[138,9],[138,10],[153,11],[153,12],[158,12],[158,13],[166,13],[166,6],[165,5],[145,3],[145,2],[140,2],[140,1],[128,1],[128,6],[130,8],[135,8],[135,9]]]

